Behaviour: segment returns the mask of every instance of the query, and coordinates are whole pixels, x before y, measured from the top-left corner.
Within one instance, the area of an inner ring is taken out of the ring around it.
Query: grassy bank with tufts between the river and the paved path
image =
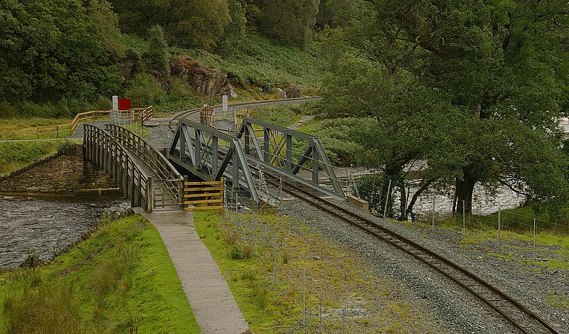
[[[110,222],[46,266],[0,275],[4,333],[199,333],[156,229]]]

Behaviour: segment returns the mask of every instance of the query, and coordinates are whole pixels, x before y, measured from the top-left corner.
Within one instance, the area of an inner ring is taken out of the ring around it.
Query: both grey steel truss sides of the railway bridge
[[[255,135],[254,126],[262,128],[261,140]],[[301,145],[303,153],[294,153],[293,144]],[[226,149],[225,154],[219,153],[221,147]],[[257,204],[260,194],[249,163],[344,200],[344,190],[318,137],[256,119],[244,119],[235,136],[182,119],[167,158],[203,180],[218,181],[221,176],[225,176],[231,183],[230,190],[237,191],[242,196],[247,194]],[[233,168],[232,171],[227,171],[230,162]],[[304,165],[309,167],[305,168]],[[319,185],[320,167],[331,184],[331,190]],[[311,171],[312,180],[297,175],[303,168]]]

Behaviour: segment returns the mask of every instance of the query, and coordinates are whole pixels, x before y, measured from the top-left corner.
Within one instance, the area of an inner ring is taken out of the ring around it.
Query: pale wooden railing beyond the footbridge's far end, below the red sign
[[[146,108],[132,108],[130,110],[115,111],[115,110],[93,110],[91,112],[80,112],[76,114],[70,123],[56,124],[48,126],[37,126],[36,127],[36,138],[39,139],[41,135],[53,135],[55,138],[60,138],[64,136],[71,136],[75,133],[75,128],[80,124],[85,122],[87,119],[95,119],[100,117],[109,117],[112,112],[129,113],[132,120],[137,120],[144,125],[148,119],[152,117],[153,107],[149,106]]]

